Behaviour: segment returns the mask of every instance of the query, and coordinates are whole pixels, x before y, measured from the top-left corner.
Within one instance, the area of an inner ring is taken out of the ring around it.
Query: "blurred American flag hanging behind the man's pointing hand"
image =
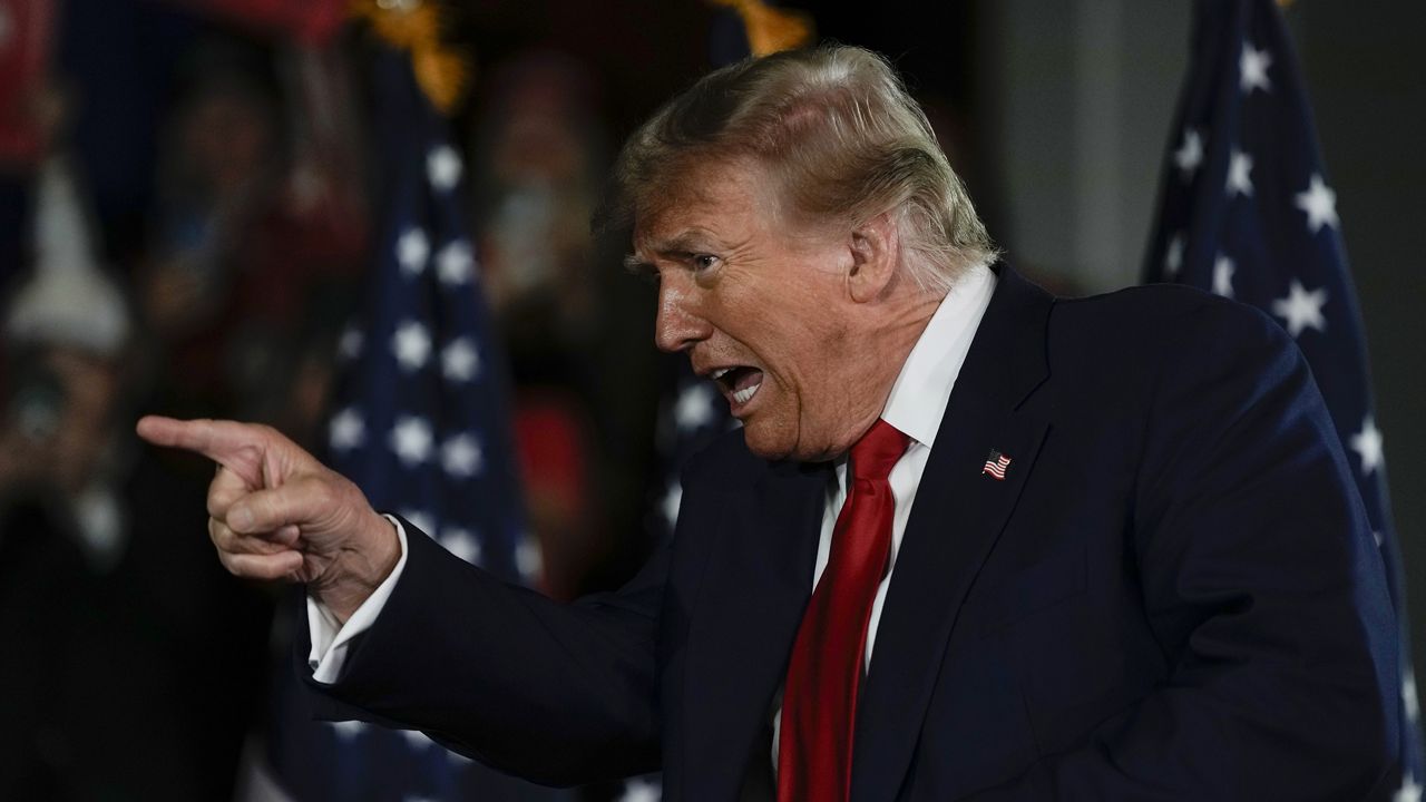
[[[374,90],[385,208],[364,320],[338,348],[328,461],[376,509],[401,514],[468,562],[529,581],[539,561],[523,537],[503,357],[466,233],[465,167],[406,59],[378,54]],[[295,799],[568,798],[421,732],[311,721],[305,692],[287,676],[270,758]]]

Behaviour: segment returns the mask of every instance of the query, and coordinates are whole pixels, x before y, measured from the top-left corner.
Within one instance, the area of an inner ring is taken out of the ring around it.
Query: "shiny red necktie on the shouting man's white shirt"
[[[787,666],[779,802],[846,802],[851,793],[851,734],[867,622],[891,551],[896,499],[887,475],[907,442],[907,435],[878,420],[851,447],[847,501]]]

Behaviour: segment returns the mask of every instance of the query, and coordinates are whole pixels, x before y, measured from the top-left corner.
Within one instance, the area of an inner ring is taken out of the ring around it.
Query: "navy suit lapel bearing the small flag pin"
[[[921,475],[857,702],[851,798],[888,801],[911,762],[965,592],[1014,509],[1048,421],[1020,411],[1045,380],[1054,300],[1000,271]],[[983,474],[991,450],[1005,478]]]

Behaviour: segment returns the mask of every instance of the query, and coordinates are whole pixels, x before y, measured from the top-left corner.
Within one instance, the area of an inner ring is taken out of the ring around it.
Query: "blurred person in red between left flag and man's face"
[[[518,51],[491,74],[472,148],[482,285],[515,380],[543,589],[562,599],[589,591],[620,549],[640,545],[616,542],[610,519],[637,498],[622,451],[630,431],[647,428],[630,382],[615,378],[629,370],[632,338],[612,320],[617,301],[599,270],[607,260],[589,235],[607,161],[592,76],[562,51]]]

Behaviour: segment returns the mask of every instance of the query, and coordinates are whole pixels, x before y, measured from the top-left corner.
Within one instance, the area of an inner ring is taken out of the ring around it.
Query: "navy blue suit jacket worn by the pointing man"
[[[727,435],[687,469],[672,547],[575,605],[408,524],[327,714],[549,783],[662,766],[669,799],[766,795],[827,475]],[[1376,798],[1396,674],[1380,558],[1281,328],[1000,268],[897,557],[853,799]]]

